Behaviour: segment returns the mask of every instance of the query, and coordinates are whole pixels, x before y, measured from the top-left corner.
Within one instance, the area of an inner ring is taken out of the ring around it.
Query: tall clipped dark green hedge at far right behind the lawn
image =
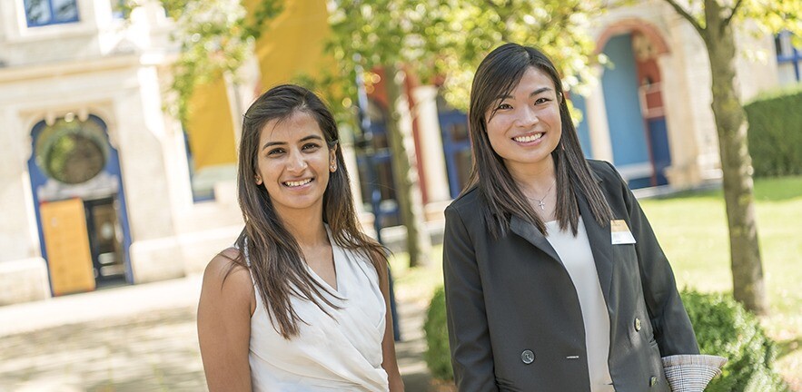
[[[762,94],[744,110],[754,175],[802,174],[802,88]]]

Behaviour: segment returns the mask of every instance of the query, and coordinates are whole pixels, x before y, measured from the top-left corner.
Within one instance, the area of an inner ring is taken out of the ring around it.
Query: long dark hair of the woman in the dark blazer
[[[520,44],[503,44],[490,52],[479,65],[470,87],[470,128],[473,166],[466,190],[476,186],[487,208],[483,211],[488,229],[495,238],[510,229],[510,217],[515,215],[537,226],[546,234],[546,225],[532,209],[523,192],[512,179],[498,153],[490,145],[485,116],[490,105],[501,95],[509,94],[520,83],[523,74],[536,68],[549,75],[559,101],[562,136],[551,152],[557,176],[556,217],[562,230],[570,228],[577,234],[579,207],[575,189],[582,192],[590,204],[593,217],[602,226],[612,216],[609,204],[590,175],[588,162],[579,146],[576,128],[571,122],[568,104],[562,91],[559,73],[549,57],[538,49]]]

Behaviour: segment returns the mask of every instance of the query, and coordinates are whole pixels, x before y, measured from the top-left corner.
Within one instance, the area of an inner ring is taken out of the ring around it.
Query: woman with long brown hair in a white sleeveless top
[[[280,85],[243,120],[245,228],[203,275],[198,337],[212,391],[402,391],[385,253],[353,208],[332,113]]]

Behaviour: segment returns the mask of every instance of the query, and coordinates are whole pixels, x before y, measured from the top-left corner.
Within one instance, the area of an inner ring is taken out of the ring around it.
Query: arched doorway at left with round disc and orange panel
[[[106,125],[73,113],[35,124],[28,172],[53,295],[133,283],[120,161]]]

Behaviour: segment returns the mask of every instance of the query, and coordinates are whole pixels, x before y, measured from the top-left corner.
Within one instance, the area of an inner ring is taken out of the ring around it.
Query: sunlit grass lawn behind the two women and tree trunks
[[[802,391],[802,177],[757,180],[757,230],[771,314],[763,319],[777,341],[777,370]],[[680,194],[641,201],[680,288],[731,291],[727,217],[721,191]],[[407,257],[391,261],[400,299],[428,301],[442,282],[442,248],[428,268],[406,268]]]

